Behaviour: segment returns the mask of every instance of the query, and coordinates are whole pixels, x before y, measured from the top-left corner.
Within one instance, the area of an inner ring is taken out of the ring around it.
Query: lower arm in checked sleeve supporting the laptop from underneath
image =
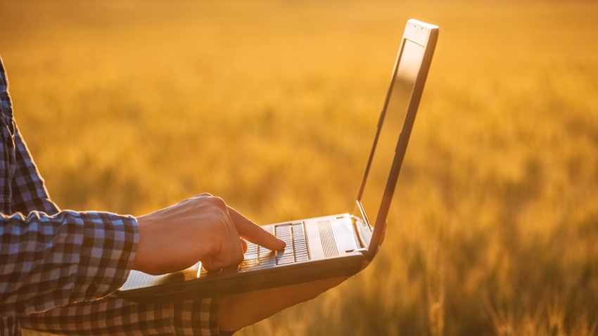
[[[170,304],[135,304],[117,297],[80,302],[20,317],[23,328],[61,335],[220,335],[305,302],[344,278]]]

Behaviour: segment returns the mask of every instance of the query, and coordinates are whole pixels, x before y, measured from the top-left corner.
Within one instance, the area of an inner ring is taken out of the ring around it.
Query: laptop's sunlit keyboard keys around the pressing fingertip
[[[260,245],[248,243],[245,260],[239,265],[239,271],[291,264],[310,259],[303,222],[277,224],[269,227],[268,231],[285,241],[284,251],[272,251]]]

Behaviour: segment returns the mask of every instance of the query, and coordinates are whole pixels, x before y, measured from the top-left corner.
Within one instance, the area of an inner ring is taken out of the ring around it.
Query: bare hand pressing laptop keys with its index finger
[[[197,261],[208,270],[236,266],[247,248],[243,239],[269,250],[286,245],[210,194],[137,217],[137,222],[133,269],[152,275],[180,271]]]

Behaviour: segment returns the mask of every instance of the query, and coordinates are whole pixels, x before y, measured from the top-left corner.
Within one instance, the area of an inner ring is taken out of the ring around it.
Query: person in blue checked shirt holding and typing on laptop
[[[138,226],[132,217],[58,212],[13,122],[7,86],[0,60],[0,145],[4,151],[4,157],[0,157],[0,210],[12,214],[0,216],[0,323],[11,324],[4,325],[3,330],[17,332],[13,316],[19,315],[27,327],[55,332],[151,334],[162,333],[159,328],[165,323],[172,325],[177,334],[217,335],[218,327],[223,330],[242,328],[315,297],[343,280],[293,286],[290,288],[293,293],[285,296],[276,295],[279,290],[274,289],[224,297],[222,309],[215,304],[218,299],[170,306],[130,304],[113,297],[68,303],[112,292],[124,282],[127,270],[133,265],[141,271],[161,273],[201,259],[208,268],[217,269],[241,261],[246,248],[241,236],[270,250],[283,248],[284,242],[265,234],[259,226],[226,207],[222,200],[208,195],[140,217],[139,223],[144,224],[137,254],[134,251],[139,239]],[[206,223],[196,217],[202,213],[195,207],[196,202],[215,206],[204,213],[203,219],[209,219],[210,225],[206,227],[220,232],[204,235],[213,239],[201,247],[197,240],[189,239],[202,231],[200,227],[204,225],[198,224]],[[22,213],[28,214],[27,217]],[[210,215],[205,216],[208,213]],[[182,229],[172,230],[170,225]],[[187,235],[187,229],[193,235]],[[164,238],[179,243],[176,235],[164,235],[172,232],[182,233],[182,248],[177,249],[174,258],[156,253],[163,251],[160,242]],[[174,259],[184,261],[174,264],[172,269],[170,263]],[[61,304],[65,306],[59,306]],[[34,311],[44,312],[34,314]],[[225,323],[215,325],[217,316]],[[152,321],[160,322],[156,325]]]

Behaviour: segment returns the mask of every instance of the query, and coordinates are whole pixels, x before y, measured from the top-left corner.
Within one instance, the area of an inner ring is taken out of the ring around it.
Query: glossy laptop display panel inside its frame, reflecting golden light
[[[427,39],[424,39],[423,44],[426,44],[426,42]],[[417,90],[419,92],[414,92],[416,79],[423,77],[425,80],[425,76],[427,75],[427,68],[420,73],[425,52],[425,46],[410,39],[403,39],[400,54],[397,56],[393,79],[391,80],[384,109],[381,113],[381,119],[378,121],[378,133],[374,141],[375,149],[372,150],[371,157],[369,158],[369,164],[365,172],[366,175],[357,198],[362,215],[366,217],[364,219],[372,226],[378,224],[378,221],[386,221],[386,214],[395,188],[398,169],[400,169],[400,164],[405,155],[404,151],[411,133],[415,117],[414,113],[416,112],[417,105],[419,105],[419,95],[421,95],[421,90],[423,89],[422,83],[422,86]],[[412,103],[412,96],[416,96],[413,99],[414,103]],[[412,111],[409,117],[407,117],[407,110]],[[408,122],[404,128],[406,117]],[[401,133],[403,133],[403,138],[401,139],[402,145],[399,144]],[[395,157],[396,149],[401,150],[403,153],[399,153]],[[394,160],[398,160],[395,165],[396,172],[391,173]],[[392,186],[387,188],[387,185]],[[385,193],[390,193],[391,195],[386,195],[385,197]],[[378,218],[381,212],[382,217]]]

